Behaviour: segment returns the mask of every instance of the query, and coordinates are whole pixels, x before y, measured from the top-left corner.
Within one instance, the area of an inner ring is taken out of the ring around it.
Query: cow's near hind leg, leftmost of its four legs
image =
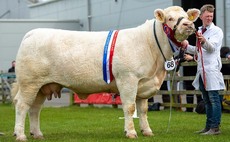
[[[14,98],[15,103],[15,128],[14,134],[17,141],[26,141],[25,135],[25,119],[27,112],[29,111],[31,104],[35,100],[36,94],[18,91]]]

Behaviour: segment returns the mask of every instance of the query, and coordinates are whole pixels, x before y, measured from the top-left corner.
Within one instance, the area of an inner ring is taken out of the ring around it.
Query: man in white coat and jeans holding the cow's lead
[[[221,101],[219,90],[225,89],[220,49],[222,45],[223,32],[214,25],[214,6],[206,4],[200,9],[200,19],[203,25],[197,32],[197,45],[187,46],[187,52],[197,57],[197,73],[193,86],[202,92],[206,107],[205,128],[196,133],[202,135],[220,134]]]

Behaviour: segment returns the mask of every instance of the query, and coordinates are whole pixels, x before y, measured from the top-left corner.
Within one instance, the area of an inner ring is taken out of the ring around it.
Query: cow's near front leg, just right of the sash
[[[127,75],[126,77],[122,77],[122,79],[116,79],[125,117],[124,129],[126,137],[137,138],[137,132],[133,123],[133,114],[135,111],[138,79],[134,76],[129,75]]]

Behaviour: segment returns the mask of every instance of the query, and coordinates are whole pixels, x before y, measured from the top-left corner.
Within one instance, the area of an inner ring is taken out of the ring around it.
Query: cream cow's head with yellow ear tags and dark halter
[[[179,6],[168,7],[164,10],[156,9],[154,16],[156,20],[163,25],[169,27],[172,31],[170,34],[178,42],[188,38],[189,35],[195,32],[194,23],[199,17],[200,11],[198,9],[189,9],[187,12]]]

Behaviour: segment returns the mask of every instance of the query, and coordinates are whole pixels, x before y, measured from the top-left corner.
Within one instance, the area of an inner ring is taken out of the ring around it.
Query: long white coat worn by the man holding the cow
[[[202,44],[202,53],[201,54],[197,51],[195,46],[189,45],[187,47],[187,52],[192,54],[197,54],[197,73],[196,77],[192,83],[195,89],[199,89],[199,77],[203,76],[203,69],[202,69],[202,61],[203,58],[204,63],[204,71],[206,77],[206,90],[223,90],[225,89],[223,75],[220,72],[222,67],[221,57],[220,57],[220,49],[222,45],[223,39],[223,32],[222,30],[215,26],[213,23],[206,27],[207,30],[203,33],[203,36],[206,39],[206,42]],[[202,27],[199,27],[199,32],[201,32]]]

